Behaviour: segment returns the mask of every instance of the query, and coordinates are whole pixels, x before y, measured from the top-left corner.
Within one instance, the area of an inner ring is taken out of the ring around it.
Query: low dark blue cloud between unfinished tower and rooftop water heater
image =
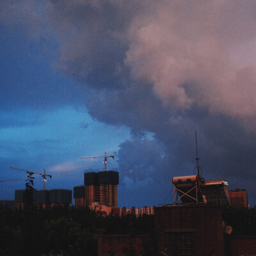
[[[164,155],[163,148],[159,141],[147,138],[134,138],[120,144],[118,193],[121,200],[126,197],[128,206],[171,202],[173,170],[170,157]]]

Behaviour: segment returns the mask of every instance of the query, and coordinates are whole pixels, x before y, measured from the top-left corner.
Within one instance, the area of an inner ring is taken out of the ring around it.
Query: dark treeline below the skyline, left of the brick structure
[[[100,234],[152,235],[154,217],[104,217],[90,209],[65,207],[0,208],[0,255],[95,256]]]

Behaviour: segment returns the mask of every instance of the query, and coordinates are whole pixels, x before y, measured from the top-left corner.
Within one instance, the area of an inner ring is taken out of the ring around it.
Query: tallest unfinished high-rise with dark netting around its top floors
[[[114,171],[84,173],[84,186],[74,187],[76,207],[99,205],[117,207],[119,173]]]

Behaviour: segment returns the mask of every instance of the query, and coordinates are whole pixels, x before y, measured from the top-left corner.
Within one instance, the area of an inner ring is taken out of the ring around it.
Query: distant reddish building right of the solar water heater
[[[228,191],[228,198],[231,207],[248,208],[248,195],[246,189],[236,188]]]

